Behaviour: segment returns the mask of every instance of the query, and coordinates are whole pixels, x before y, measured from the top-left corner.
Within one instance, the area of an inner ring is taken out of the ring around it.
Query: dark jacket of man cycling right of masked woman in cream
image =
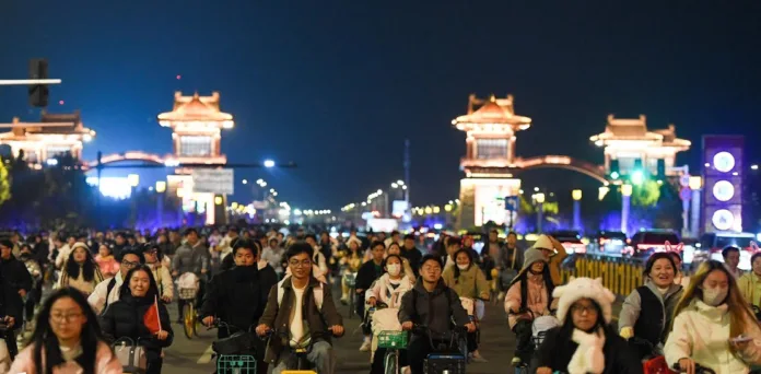
[[[470,322],[457,293],[446,287],[442,280],[433,292],[428,292],[423,287],[422,278],[418,279],[412,291],[401,296],[400,324],[406,322],[422,324],[428,326],[434,335],[441,336],[452,331],[453,317],[457,326],[465,326]]]

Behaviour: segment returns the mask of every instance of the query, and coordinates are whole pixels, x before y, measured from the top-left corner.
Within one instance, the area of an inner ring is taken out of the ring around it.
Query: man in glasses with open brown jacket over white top
[[[306,349],[306,360],[320,374],[336,372],[331,337],[343,335],[343,320],[333,304],[330,287],[312,277],[309,244],[296,242],[285,253],[291,276],[269,292],[267,306],[256,332],[269,339],[265,361],[274,364],[273,374],[296,367],[294,351]]]

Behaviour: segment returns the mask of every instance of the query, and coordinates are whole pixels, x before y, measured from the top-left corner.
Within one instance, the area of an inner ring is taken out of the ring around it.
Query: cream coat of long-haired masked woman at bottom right
[[[742,335],[753,340],[738,352],[740,358],[737,358],[729,351],[729,339],[733,337],[729,336],[727,304],[710,306],[693,300],[674,319],[674,329],[664,347],[666,362],[672,366],[679,359],[691,358],[713,369],[716,374],[749,373],[748,363],[761,363],[761,330],[754,320],[749,320],[747,326],[750,328]]]

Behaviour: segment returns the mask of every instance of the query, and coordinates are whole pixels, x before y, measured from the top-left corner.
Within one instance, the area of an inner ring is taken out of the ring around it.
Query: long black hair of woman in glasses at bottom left
[[[69,297],[73,300],[82,309],[82,315],[87,319],[82,325],[82,334],[80,336],[80,344],[82,346],[82,354],[77,358],[77,363],[82,367],[84,374],[95,374],[95,360],[97,359],[97,346],[101,342],[105,343],[101,326],[97,323],[97,316],[87,304],[81,291],[72,288],[60,289],[43,303],[43,307],[37,315],[37,325],[32,334],[31,343],[34,344],[32,358],[36,373],[52,373],[52,369],[65,362],[61,354],[58,338],[50,327],[50,309],[57,301]],[[45,358],[43,359],[43,354]],[[44,362],[44,367],[43,367]]]

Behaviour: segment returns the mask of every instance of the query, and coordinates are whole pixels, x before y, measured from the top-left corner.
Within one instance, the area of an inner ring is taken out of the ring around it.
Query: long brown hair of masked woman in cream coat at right
[[[756,322],[756,315],[753,315],[753,312],[751,312],[750,307],[748,306],[748,302],[745,300],[745,297],[742,297],[742,293],[740,293],[740,289],[737,287],[735,277],[729,273],[724,264],[716,260],[709,260],[701,264],[698,271],[692,274],[690,285],[687,288],[682,294],[682,297],[679,300],[677,307],[674,309],[674,318],[671,320],[676,319],[679,313],[687,309],[692,304],[693,300],[703,299],[703,290],[701,287],[703,285],[705,278],[707,278],[713,271],[722,271],[727,276],[729,293],[727,294],[727,299],[724,300],[724,303],[726,303],[728,306],[729,336],[736,337],[750,330],[748,325],[758,324],[758,322]],[[734,347],[729,346],[729,350],[734,355],[738,357],[738,352]]]

